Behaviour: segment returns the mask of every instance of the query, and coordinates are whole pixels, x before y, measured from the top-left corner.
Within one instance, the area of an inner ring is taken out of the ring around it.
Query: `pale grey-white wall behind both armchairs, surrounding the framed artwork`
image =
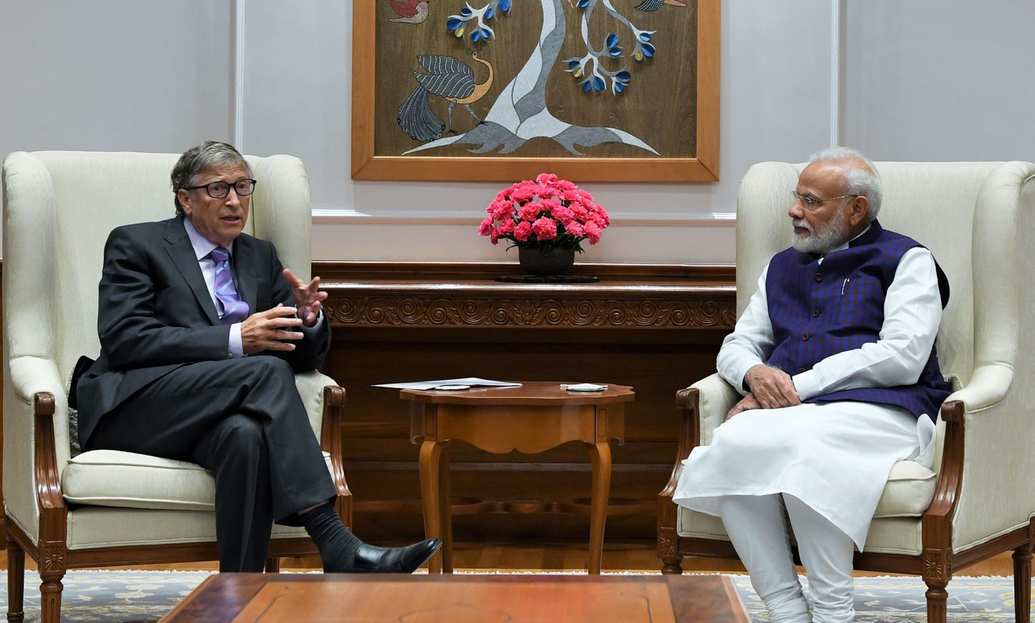
[[[0,154],[230,140],[305,161],[315,259],[515,261],[475,232],[503,184],[349,178],[351,6],[0,0]],[[838,141],[1035,159],[1032,32],[1031,0],[723,1],[720,181],[585,184],[613,225],[580,261],[732,263],[747,168]]]

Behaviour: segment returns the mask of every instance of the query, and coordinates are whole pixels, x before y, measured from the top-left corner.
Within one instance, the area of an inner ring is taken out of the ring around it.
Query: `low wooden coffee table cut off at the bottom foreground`
[[[721,575],[218,573],[162,621],[748,623]]]

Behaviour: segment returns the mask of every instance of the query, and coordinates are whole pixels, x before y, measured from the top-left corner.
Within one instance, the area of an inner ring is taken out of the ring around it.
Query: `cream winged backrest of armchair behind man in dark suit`
[[[8,361],[35,356],[68,379],[80,355],[96,357],[97,284],[105,241],[117,226],[175,214],[170,172],[156,153],[14,152],[3,164],[3,308]],[[308,177],[292,156],[246,156],[259,180],[245,232],[271,241],[283,264],[309,275]],[[67,422],[56,418],[58,465]],[[22,440],[21,443],[31,443]]]

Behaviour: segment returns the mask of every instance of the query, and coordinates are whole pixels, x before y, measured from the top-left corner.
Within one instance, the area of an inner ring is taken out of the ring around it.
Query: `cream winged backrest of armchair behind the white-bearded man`
[[[791,190],[806,164],[762,162],[740,184],[737,202],[737,313],[755,293],[769,259],[791,245]],[[1015,313],[997,296],[996,275],[1013,263],[1017,188],[1030,162],[877,162],[885,229],[926,246],[949,278],[951,298],[938,335],[939,362],[964,385],[975,361],[1011,365]],[[1012,328],[1012,330],[1011,330]],[[975,332],[982,339],[975,342]]]

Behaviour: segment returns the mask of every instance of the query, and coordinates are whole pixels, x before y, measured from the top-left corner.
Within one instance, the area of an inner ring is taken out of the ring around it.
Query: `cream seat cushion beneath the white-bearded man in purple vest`
[[[935,472],[913,461],[899,461],[891,468],[874,517],[922,515],[935,497],[937,482],[938,475]],[[680,508],[678,526],[680,536],[729,540],[721,520],[708,514]]]

